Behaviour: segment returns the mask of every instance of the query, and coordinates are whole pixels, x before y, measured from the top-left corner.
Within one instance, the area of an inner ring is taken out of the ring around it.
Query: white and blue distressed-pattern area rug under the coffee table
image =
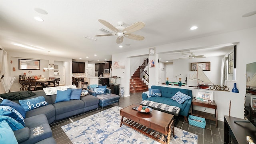
[[[61,128],[73,144],[158,144],[124,124],[120,127],[120,109],[122,108],[114,106]],[[174,134],[170,144],[197,144],[196,134],[176,127]]]

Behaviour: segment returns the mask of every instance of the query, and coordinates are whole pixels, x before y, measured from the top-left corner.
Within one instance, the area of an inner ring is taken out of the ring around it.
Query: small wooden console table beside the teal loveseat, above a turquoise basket
[[[215,110],[215,113],[210,114],[207,112],[193,110],[193,105],[194,106],[202,106],[202,107],[206,107],[206,108],[213,108]],[[216,121],[216,128],[218,128],[218,109],[217,109],[217,104],[215,103],[214,100],[212,103],[208,103],[208,102],[204,102],[204,101],[196,100],[196,99],[192,100],[191,115],[207,118],[208,120],[214,120],[214,121]]]

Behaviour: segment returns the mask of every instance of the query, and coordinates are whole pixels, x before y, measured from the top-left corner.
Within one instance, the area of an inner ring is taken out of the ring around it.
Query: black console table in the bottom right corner
[[[224,115],[224,144],[246,144],[246,136],[250,136],[256,142],[256,128],[250,122],[241,118]]]

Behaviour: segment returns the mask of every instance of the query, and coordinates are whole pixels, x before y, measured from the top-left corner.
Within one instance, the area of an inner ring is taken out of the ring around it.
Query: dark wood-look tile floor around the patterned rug
[[[142,92],[130,94],[129,97],[120,97],[119,106],[125,108],[126,106],[130,106],[131,104],[140,104],[140,102],[142,101],[141,95]],[[106,110],[113,106],[118,106],[118,103],[106,106],[103,110]],[[84,114],[72,116],[70,118],[66,118],[65,120],[51,124],[50,126],[52,128],[52,135],[56,140],[57,144],[72,144],[68,136],[66,136],[65,132],[62,130],[61,126],[69,124],[72,121],[80,120],[100,111],[102,111],[102,108],[99,106],[98,110],[91,110],[85,112]],[[216,128],[216,124],[214,121],[206,119],[206,128],[199,128],[185,122],[183,117],[179,117],[178,121],[175,122],[175,126],[177,128],[181,128],[182,130],[197,134],[198,144],[224,144],[224,122],[218,121],[218,128]]]

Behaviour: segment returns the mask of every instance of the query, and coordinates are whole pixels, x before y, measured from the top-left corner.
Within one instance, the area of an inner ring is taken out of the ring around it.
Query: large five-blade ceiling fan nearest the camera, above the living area
[[[136,22],[127,27],[122,26],[124,24],[123,22],[118,22],[119,26],[114,27],[112,24],[110,24],[106,20],[98,19],[98,21],[100,23],[102,23],[104,26],[108,27],[110,30],[114,31],[114,33],[99,34],[99,35],[95,35],[95,36],[115,36],[115,35],[117,35],[118,36],[116,38],[117,44],[121,44],[123,42],[124,36],[126,38],[130,38],[132,40],[144,40],[144,36],[132,34],[132,32],[142,29],[145,26],[144,22]]]

